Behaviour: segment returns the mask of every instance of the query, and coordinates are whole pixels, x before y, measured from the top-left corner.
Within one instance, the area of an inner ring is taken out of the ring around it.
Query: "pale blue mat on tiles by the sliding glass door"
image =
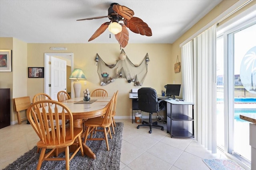
[[[211,170],[244,170],[238,163],[229,159],[202,159]]]

